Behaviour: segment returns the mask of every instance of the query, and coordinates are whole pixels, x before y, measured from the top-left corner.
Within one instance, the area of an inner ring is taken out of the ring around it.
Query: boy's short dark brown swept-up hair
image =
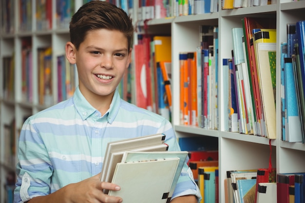
[[[128,40],[128,51],[132,46],[133,23],[126,12],[112,3],[93,0],[82,5],[70,22],[70,40],[78,50],[88,31],[97,29],[117,30]]]

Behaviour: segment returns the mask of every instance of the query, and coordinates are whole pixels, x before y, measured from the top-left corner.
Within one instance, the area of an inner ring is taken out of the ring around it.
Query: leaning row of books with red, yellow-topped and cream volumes
[[[276,138],[276,29],[273,18],[242,18],[223,59],[225,130]]]

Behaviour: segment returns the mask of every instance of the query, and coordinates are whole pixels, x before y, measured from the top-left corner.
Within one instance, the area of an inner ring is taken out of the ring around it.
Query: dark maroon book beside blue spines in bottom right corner
[[[289,185],[294,185],[294,174],[277,174],[277,202],[289,203]]]

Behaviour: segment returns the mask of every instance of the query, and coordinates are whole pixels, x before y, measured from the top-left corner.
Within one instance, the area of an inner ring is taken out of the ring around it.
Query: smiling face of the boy
[[[79,89],[90,98],[112,98],[131,61],[127,37],[119,31],[89,31],[75,51]],[[131,51],[131,50],[130,50]]]

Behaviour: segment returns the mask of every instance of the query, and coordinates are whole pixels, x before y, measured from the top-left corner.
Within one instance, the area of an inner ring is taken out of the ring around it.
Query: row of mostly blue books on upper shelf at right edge
[[[282,136],[288,142],[305,140],[305,21],[288,23],[281,43]]]

